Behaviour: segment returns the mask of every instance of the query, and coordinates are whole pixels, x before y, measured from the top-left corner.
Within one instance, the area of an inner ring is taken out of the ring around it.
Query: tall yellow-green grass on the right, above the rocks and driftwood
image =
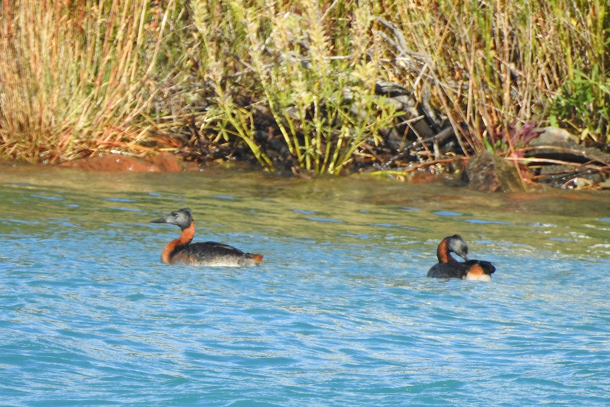
[[[544,124],[577,71],[599,65],[610,75],[610,32],[602,29],[610,8],[603,1],[423,0],[395,7],[410,48],[398,51],[428,56],[417,77],[403,71],[398,80],[428,82],[473,151],[512,148],[498,144],[510,126]]]

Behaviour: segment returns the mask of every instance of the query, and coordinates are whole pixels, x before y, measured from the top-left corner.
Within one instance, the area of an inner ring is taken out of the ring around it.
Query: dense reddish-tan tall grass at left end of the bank
[[[172,3],[4,2],[0,154],[54,161],[137,146]]]

